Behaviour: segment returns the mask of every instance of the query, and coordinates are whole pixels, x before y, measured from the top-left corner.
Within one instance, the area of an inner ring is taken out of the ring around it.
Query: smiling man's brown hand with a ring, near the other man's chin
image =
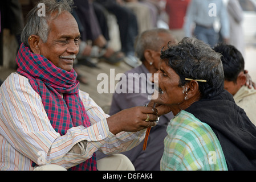
[[[137,106],[121,110],[108,117],[107,122],[109,131],[117,134],[121,131],[136,132],[155,126],[157,118],[157,110],[153,107]]]

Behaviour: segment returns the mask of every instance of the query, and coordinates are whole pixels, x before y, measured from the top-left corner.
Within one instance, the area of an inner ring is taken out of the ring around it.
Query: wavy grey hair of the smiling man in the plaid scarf
[[[29,47],[28,39],[30,35],[38,35],[46,43],[49,32],[47,21],[52,18],[52,13],[56,13],[56,17],[58,17],[63,11],[71,12],[71,6],[74,4],[72,0],[60,0],[58,2],[55,0],[43,0],[39,3],[45,5],[45,16],[38,15],[38,10],[42,8],[40,6],[38,7],[38,5],[27,15],[27,23],[21,34],[21,42],[27,47]]]

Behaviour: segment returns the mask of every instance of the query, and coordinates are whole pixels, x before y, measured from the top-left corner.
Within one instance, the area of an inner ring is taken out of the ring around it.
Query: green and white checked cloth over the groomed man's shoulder
[[[227,170],[225,156],[213,130],[184,110],[170,120],[164,140],[161,170]]]

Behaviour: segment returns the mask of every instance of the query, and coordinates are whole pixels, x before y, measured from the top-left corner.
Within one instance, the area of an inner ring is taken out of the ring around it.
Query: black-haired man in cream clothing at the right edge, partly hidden
[[[245,110],[251,122],[256,125],[256,90],[245,85],[245,61],[242,53],[234,46],[225,44],[219,44],[214,50],[222,54],[224,88],[233,95],[235,103]]]

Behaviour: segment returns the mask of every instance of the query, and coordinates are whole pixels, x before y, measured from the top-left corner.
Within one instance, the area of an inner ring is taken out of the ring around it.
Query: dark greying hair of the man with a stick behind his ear
[[[180,76],[179,86],[185,85],[185,78],[206,80],[198,82],[201,98],[212,98],[224,89],[221,56],[196,38],[184,38],[177,46],[168,46],[161,51],[161,59]]]

